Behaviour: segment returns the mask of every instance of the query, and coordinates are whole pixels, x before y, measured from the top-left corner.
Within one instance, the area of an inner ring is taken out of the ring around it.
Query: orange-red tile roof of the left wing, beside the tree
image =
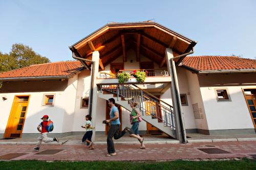
[[[0,78],[69,76],[81,68],[80,61],[60,61],[2,72],[0,73]]]

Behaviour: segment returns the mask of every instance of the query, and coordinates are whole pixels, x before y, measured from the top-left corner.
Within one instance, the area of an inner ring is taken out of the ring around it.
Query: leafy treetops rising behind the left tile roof
[[[9,54],[0,52],[0,72],[49,62],[47,57],[42,57],[31,47],[20,43],[13,44]]]

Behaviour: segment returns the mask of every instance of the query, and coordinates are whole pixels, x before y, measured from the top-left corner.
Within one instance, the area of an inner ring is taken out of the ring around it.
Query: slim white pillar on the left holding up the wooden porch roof
[[[96,127],[96,113],[97,113],[97,98],[98,98],[98,87],[96,84],[96,79],[99,72],[99,52],[95,51],[93,52],[92,61],[94,61],[94,65],[92,65],[91,68],[91,80],[93,81],[93,88],[90,89],[90,98],[89,98],[89,104],[91,103],[91,95],[93,95],[92,98],[92,105],[89,105],[88,112],[90,111],[90,107],[92,109],[92,124],[94,127]],[[94,72],[94,74],[93,74]],[[96,129],[93,130],[93,136],[92,140],[95,140],[95,132]]]

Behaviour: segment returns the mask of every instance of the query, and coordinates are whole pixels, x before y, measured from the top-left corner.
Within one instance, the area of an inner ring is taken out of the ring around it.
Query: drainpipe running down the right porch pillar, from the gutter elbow
[[[188,52],[188,53],[185,53],[185,54],[182,54],[182,55],[179,55],[179,56],[177,56],[177,57],[173,57],[173,58],[171,58],[170,60],[171,60],[171,64],[173,63],[173,61],[175,60],[175,59],[179,59],[179,58],[182,58],[182,57],[186,57],[187,55],[189,55],[189,54],[193,54],[194,53],[194,47],[192,48],[192,51],[191,52]],[[180,60],[180,62],[181,62],[182,60]],[[178,65],[179,63],[177,63],[176,65]],[[172,67],[176,67],[176,65],[175,64],[172,64]],[[177,94],[179,94],[179,89],[177,88],[177,84],[178,84],[178,77],[177,77],[177,73],[176,73],[176,69],[175,69],[175,71],[174,71],[174,69],[172,68],[172,71],[173,71],[173,74],[174,74],[174,76],[173,76],[173,79],[174,79],[174,90],[176,91],[176,95]],[[186,141],[186,136],[185,136],[185,129],[184,129],[184,122],[183,122],[183,118],[182,118],[182,113],[181,113],[181,110],[180,110],[180,108],[179,108],[179,106],[181,106],[181,104],[180,104],[180,97],[177,95],[176,96],[176,99],[177,100],[174,100],[174,102],[175,101],[177,101],[178,103],[177,103],[177,106],[178,106],[178,118],[179,118],[179,122],[180,122],[180,128],[181,128],[181,136],[182,136],[182,143],[186,143],[187,141]]]

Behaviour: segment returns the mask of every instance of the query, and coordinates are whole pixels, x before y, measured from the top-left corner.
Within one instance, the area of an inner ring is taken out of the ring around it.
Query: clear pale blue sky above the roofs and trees
[[[0,0],[0,52],[23,43],[52,62],[72,60],[69,46],[106,23],[150,19],[198,41],[193,56],[256,59],[255,0]]]

